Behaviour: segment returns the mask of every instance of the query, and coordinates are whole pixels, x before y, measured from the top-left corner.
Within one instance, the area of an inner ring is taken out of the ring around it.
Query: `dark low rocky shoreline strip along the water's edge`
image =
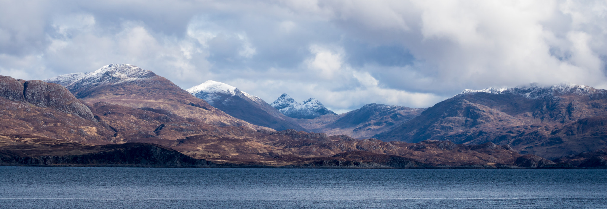
[[[55,147],[66,146],[59,144]],[[555,164],[544,158],[530,154],[520,156],[514,165],[433,165],[410,158],[379,155],[366,151],[336,154],[325,158],[309,158],[293,162],[291,165],[263,165],[256,162],[229,163],[226,159],[195,159],[169,147],[147,143],[108,144],[89,147],[69,145],[64,154],[48,155],[56,148],[42,153],[0,150],[0,166],[35,167],[154,167],[154,168],[409,168],[409,169],[605,169],[595,162],[597,156],[586,159],[577,166],[567,162]],[[31,147],[30,147],[31,148]],[[35,150],[35,149],[32,149]],[[602,151],[602,150],[601,150]],[[596,151],[599,152],[599,151]],[[78,153],[78,154],[75,154]],[[599,152],[600,153],[600,152]],[[587,153],[579,156],[588,155]],[[602,158],[602,157],[598,157]],[[228,159],[229,160],[229,159]],[[222,162],[223,161],[223,162]],[[590,166],[588,166],[590,165]]]

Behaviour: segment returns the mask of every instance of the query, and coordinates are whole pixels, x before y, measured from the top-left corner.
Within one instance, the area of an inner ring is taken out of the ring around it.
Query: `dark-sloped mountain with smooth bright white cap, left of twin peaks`
[[[189,88],[189,93],[204,99],[210,105],[254,125],[275,130],[296,129],[307,131],[293,118],[280,113],[263,99],[240,91],[236,87],[217,81],[206,81]]]

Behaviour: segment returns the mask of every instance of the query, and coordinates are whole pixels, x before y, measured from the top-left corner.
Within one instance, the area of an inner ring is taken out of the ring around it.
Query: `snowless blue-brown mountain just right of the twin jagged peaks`
[[[298,119],[298,121],[303,127],[314,132],[368,139],[375,134],[398,127],[424,110],[425,108],[367,104],[347,113],[327,114],[314,119]]]

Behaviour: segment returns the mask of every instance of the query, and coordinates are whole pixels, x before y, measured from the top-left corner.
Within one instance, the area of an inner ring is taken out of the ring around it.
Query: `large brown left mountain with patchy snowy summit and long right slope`
[[[212,125],[263,128],[229,116],[168,79],[135,65],[110,64],[96,71],[60,75],[44,81],[61,84],[76,98],[90,104],[109,102],[134,108],[154,108]]]

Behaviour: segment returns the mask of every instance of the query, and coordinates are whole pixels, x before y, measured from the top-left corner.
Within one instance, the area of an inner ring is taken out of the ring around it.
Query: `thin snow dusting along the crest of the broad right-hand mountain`
[[[588,85],[577,85],[571,83],[565,84],[557,84],[549,87],[544,87],[538,84],[530,84],[526,86],[519,86],[514,88],[496,88],[489,87],[483,90],[470,90],[466,89],[462,91],[460,94],[466,93],[477,93],[477,92],[485,92],[492,94],[505,94],[512,93],[523,95],[526,98],[541,98],[544,96],[554,96],[554,95],[589,95],[592,93],[606,93],[606,90],[597,90],[595,88],[589,87]]]

